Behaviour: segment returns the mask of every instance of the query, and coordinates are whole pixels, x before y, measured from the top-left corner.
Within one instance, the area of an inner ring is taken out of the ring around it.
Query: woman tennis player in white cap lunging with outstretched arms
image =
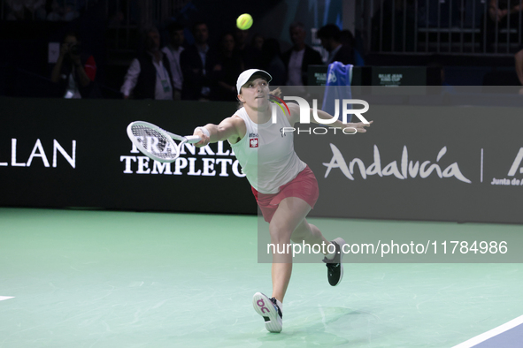
[[[327,279],[329,284],[336,286],[342,281],[341,248],[345,241],[335,238],[329,242],[316,226],[305,219],[318,200],[318,183],[309,166],[296,155],[293,133],[281,132],[283,127],[293,127],[299,121],[299,106],[289,103],[290,114],[276,108],[277,122],[273,123],[271,119],[273,108],[268,98],[271,79],[269,73],[258,69],[242,72],[236,82],[242,108],[219,125],[196,127],[194,135],[202,138],[196,146],[228,140],[252,186],[252,193],[265,221],[269,223],[271,243],[278,247],[276,250],[287,251],[285,246],[291,240],[311,247],[324,243],[323,261],[327,263]],[[321,119],[333,118],[321,110],[318,110],[318,116]],[[369,125],[336,121],[330,126],[340,129],[350,127],[350,132],[366,132],[365,127]],[[334,248],[328,247],[331,244]],[[334,252],[328,253],[328,250]],[[253,298],[255,310],[264,318],[265,328],[271,332],[281,332],[282,329],[281,303],[291,271],[292,255],[278,251],[273,253],[272,297],[257,292]]]

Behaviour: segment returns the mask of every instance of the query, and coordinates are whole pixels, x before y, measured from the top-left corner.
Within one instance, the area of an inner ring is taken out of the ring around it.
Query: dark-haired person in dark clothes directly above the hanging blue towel
[[[327,64],[333,62],[341,62],[342,64],[356,64],[354,59],[354,49],[350,46],[342,44],[342,31],[335,24],[327,24],[322,26],[316,33],[321,46],[327,49],[328,59]]]

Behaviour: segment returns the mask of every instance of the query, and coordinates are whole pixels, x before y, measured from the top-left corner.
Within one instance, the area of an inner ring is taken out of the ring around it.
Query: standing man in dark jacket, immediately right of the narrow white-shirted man
[[[216,54],[209,47],[209,29],[204,22],[193,26],[195,44],[181,52],[180,63],[183,73],[181,99],[209,101],[211,97],[212,68]]]

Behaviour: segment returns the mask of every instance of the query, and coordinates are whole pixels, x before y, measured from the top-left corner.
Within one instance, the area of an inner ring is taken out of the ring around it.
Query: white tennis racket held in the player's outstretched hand
[[[158,125],[143,121],[135,121],[127,125],[127,135],[143,155],[162,163],[174,162],[180,156],[183,144],[194,144],[201,140],[197,135],[186,137],[176,135]],[[176,144],[174,140],[180,142]]]

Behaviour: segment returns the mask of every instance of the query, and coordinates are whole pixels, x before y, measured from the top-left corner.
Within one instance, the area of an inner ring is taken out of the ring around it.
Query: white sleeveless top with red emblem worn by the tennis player
[[[293,132],[281,132],[281,128],[291,126],[287,117],[280,108],[276,112],[276,124],[271,119],[262,125],[252,122],[245,108],[235,112],[242,117],[247,132],[231,148],[243,174],[259,193],[278,193],[281,185],[296,178],[307,166],[294,151]]]

